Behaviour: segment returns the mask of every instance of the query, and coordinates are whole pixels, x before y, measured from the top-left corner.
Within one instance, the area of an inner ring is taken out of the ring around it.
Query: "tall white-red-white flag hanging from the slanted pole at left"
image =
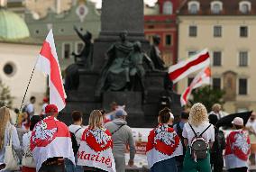
[[[36,68],[49,76],[50,104],[55,104],[61,111],[66,105],[66,93],[64,90],[59,60],[55,48],[52,30],[43,41]]]

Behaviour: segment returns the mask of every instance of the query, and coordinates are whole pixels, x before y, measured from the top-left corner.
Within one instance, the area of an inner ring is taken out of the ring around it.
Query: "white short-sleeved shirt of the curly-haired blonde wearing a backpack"
[[[206,128],[210,125],[209,122],[205,122],[199,126],[192,125],[193,129],[197,132],[197,135],[200,135],[203,131],[206,130]],[[195,133],[192,131],[191,127],[189,126],[188,122],[185,123],[182,136],[188,140],[188,145],[191,145],[191,141],[195,137]],[[213,125],[210,126],[202,135],[202,137],[209,142],[215,141],[215,127]]]

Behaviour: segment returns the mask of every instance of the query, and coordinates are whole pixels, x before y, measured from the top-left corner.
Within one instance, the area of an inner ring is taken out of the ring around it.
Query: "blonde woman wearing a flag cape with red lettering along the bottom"
[[[103,127],[103,122],[101,111],[90,113],[89,125],[78,149],[78,166],[83,166],[85,172],[115,172],[113,141],[110,131]]]

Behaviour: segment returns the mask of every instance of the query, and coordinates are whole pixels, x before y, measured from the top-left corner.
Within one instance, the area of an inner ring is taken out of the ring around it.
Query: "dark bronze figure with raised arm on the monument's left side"
[[[75,63],[77,63],[79,66],[84,66],[85,68],[91,68],[92,64],[92,57],[93,57],[93,43],[92,43],[92,34],[90,32],[87,32],[86,34],[82,34],[78,31],[78,28],[74,26],[75,32],[77,32],[78,37],[84,41],[84,48],[79,53],[76,54],[75,52],[72,52],[72,55],[75,58]]]

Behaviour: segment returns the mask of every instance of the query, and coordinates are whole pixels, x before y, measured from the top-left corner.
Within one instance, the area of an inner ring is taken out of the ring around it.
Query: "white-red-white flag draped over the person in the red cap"
[[[75,165],[69,128],[53,116],[41,120],[34,126],[30,148],[36,171],[39,171],[44,161],[54,157],[69,158]]]

